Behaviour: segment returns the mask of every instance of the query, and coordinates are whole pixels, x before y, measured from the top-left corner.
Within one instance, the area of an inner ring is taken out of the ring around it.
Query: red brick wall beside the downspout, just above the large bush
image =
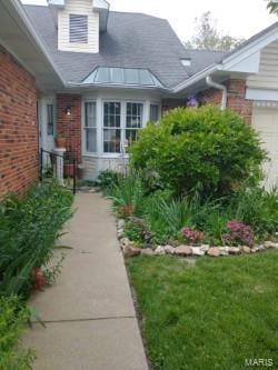
[[[252,101],[246,100],[246,81],[228,80],[226,83],[228,89],[227,107],[244,117],[245,121],[251,123]],[[220,104],[222,93],[217,89],[208,89],[200,94],[200,99],[206,103]]]

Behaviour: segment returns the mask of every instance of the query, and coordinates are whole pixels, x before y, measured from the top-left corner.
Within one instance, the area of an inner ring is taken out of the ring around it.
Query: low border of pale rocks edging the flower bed
[[[137,256],[177,256],[177,257],[202,257],[209,256],[211,258],[221,256],[239,256],[239,254],[250,254],[264,252],[268,249],[278,249],[278,242],[270,240],[265,241],[262,244],[255,246],[252,248],[248,246],[239,247],[212,247],[209,244],[201,246],[187,246],[180,244],[178,247],[172,247],[170,244],[166,246],[152,246],[151,248],[139,249],[136,248],[135,243],[128,238],[123,238],[125,234],[125,220],[117,220],[117,234],[120,242],[120,247],[125,258],[137,257]]]

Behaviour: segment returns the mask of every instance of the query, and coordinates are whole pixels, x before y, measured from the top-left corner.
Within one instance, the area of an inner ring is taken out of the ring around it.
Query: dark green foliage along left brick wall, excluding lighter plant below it
[[[71,193],[53,181],[0,206],[0,294],[28,296],[30,272],[51,258],[71,202]]]

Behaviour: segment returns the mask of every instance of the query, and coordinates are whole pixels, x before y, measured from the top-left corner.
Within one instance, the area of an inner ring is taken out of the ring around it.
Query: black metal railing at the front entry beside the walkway
[[[71,152],[64,156],[41,149],[40,180],[56,178],[61,186],[77,192],[77,160]]]

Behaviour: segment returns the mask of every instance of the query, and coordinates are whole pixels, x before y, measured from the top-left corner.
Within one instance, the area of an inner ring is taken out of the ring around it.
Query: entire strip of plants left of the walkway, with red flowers
[[[0,369],[30,369],[33,353],[18,341],[31,313],[39,317],[26,301],[59,273],[61,262],[52,268],[48,262],[62,248],[56,240],[71,217],[71,203],[68,190],[48,181],[0,204]]]

